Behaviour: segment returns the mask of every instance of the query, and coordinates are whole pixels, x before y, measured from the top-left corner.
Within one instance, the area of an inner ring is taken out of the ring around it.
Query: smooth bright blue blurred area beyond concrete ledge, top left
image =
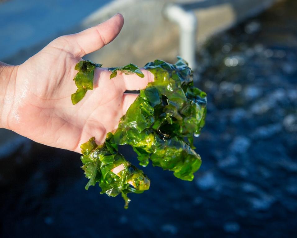
[[[0,22],[3,22],[0,25],[0,59],[10,58],[41,42],[48,44],[61,32],[73,33],[73,28],[82,19],[110,1],[88,0],[85,4],[79,0],[5,1],[0,6]],[[13,61],[23,62],[18,58]]]

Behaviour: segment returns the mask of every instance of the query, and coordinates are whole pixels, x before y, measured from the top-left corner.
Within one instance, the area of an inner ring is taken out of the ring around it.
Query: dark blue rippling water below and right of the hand
[[[130,195],[125,210],[121,197],[84,189],[79,155],[27,141],[0,159],[0,236],[295,237],[295,9],[281,3],[198,53],[208,116],[193,182],[149,165],[150,190]]]

